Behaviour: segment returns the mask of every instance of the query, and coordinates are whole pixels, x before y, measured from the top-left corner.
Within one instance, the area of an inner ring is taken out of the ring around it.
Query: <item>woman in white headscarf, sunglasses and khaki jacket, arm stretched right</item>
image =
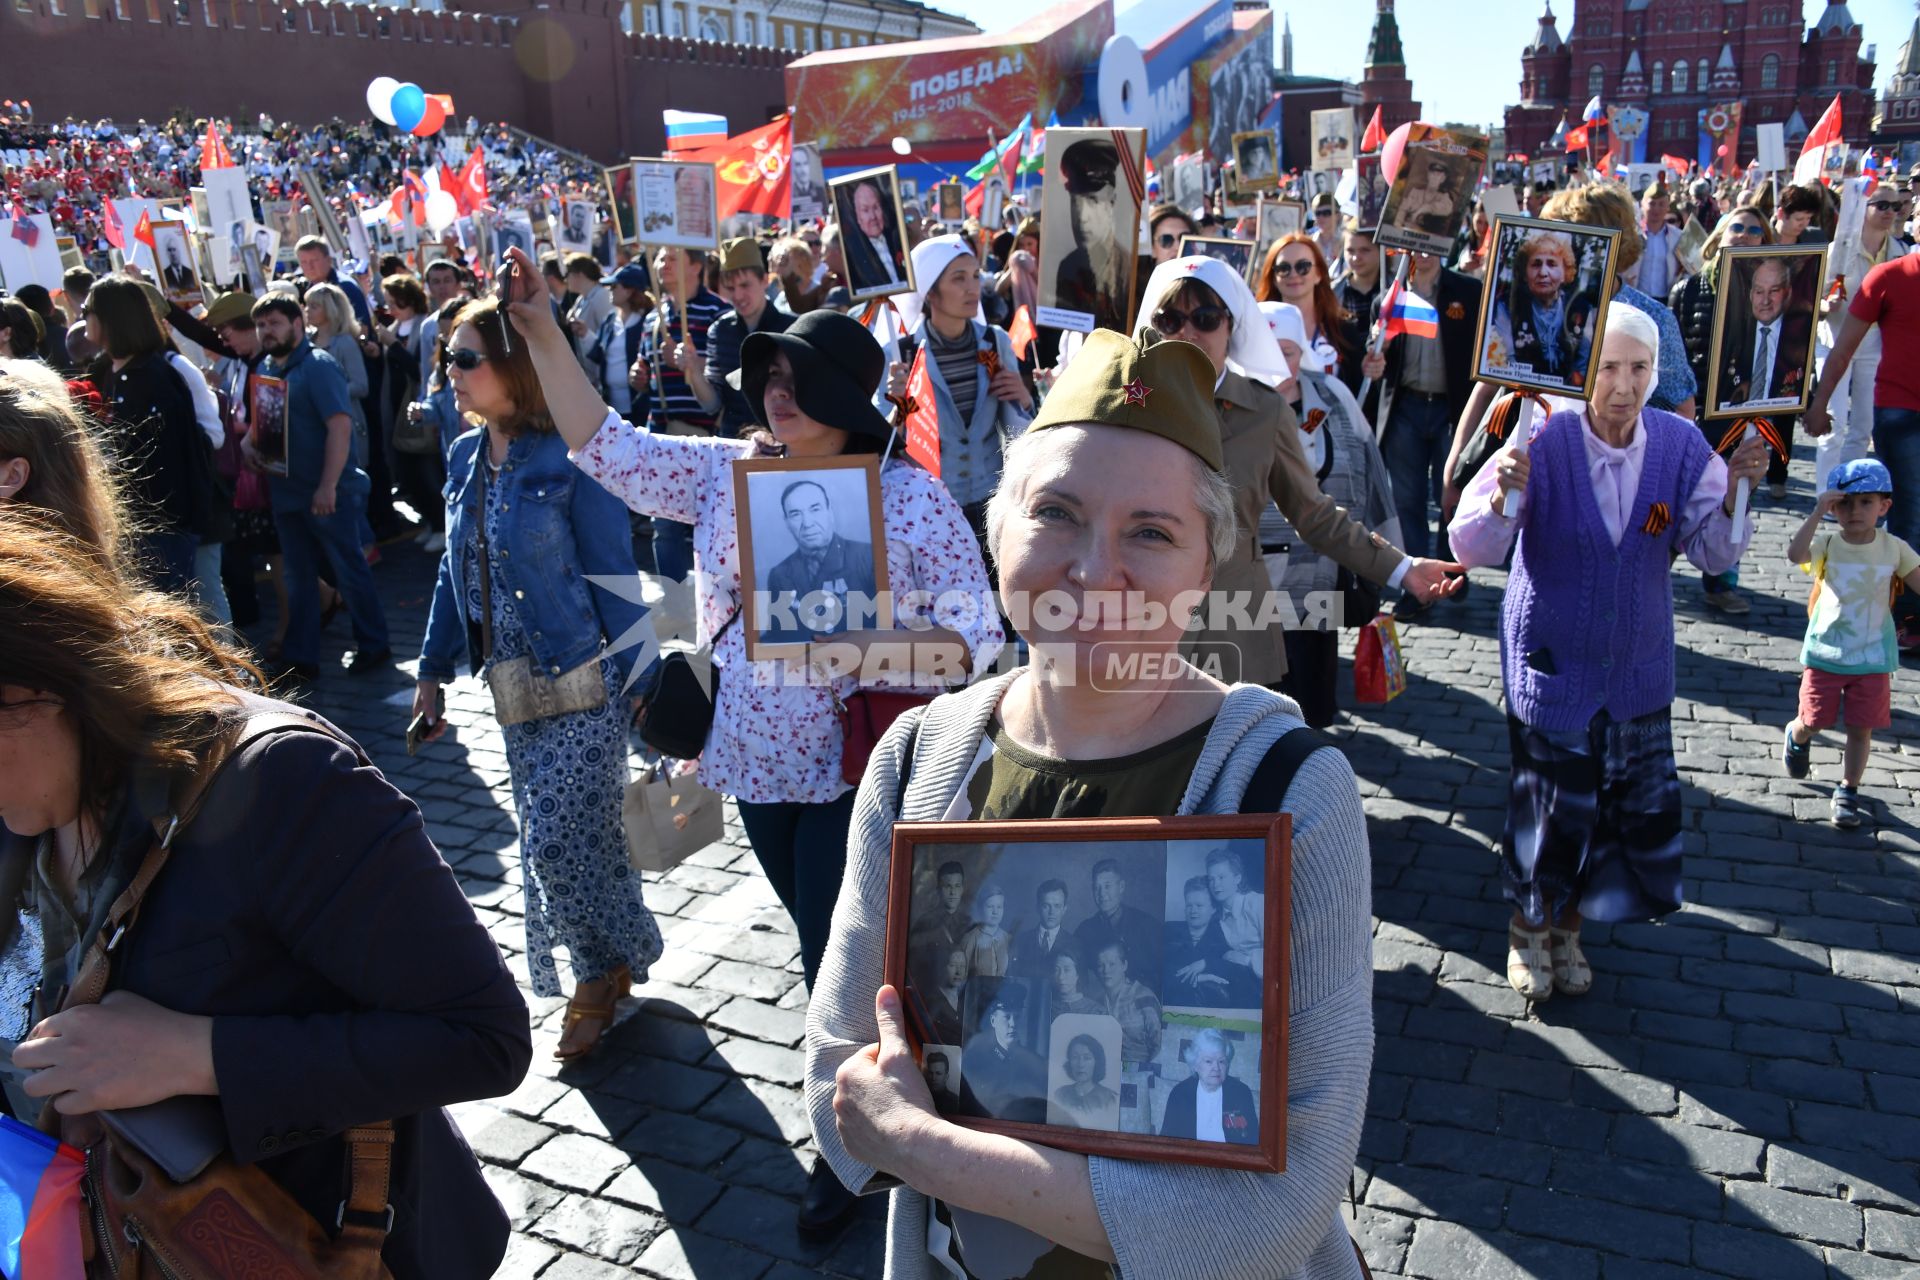
[[[1229,679],[1286,689],[1288,610],[1311,601],[1271,601],[1267,564],[1260,549],[1260,512],[1273,503],[1300,537],[1342,566],[1388,587],[1405,587],[1423,601],[1450,595],[1457,564],[1407,557],[1321,493],[1300,443],[1294,411],[1275,388],[1290,374],[1281,344],[1267,328],[1252,290],[1213,257],[1175,257],[1154,267],[1140,303],[1142,338],[1179,338],[1200,347],[1213,370],[1212,399],[1219,449],[1238,533],[1219,557],[1213,606],[1194,635],[1190,654]],[[1235,601],[1240,604],[1235,606]],[[1275,614],[1279,608],[1279,614]],[[1244,610],[1244,614],[1240,612]],[[1336,618],[1334,622],[1342,622]],[[1350,626],[1365,618],[1346,618]]]

